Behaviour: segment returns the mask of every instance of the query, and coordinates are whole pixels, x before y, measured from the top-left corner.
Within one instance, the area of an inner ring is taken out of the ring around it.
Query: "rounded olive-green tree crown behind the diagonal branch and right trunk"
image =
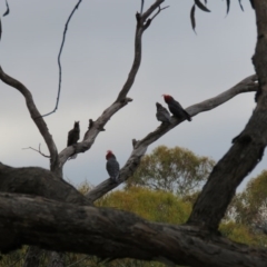
[[[186,196],[204,185],[214,166],[212,159],[196,156],[188,149],[159,146],[142,158],[135,175],[127,180],[126,189],[141,186]]]

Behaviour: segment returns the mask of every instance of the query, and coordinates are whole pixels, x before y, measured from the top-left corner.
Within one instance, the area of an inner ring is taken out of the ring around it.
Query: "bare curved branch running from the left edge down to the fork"
[[[33,101],[31,92],[20,81],[18,81],[18,80],[13,79],[12,77],[6,75],[1,67],[0,67],[0,79],[2,80],[2,82],[16,88],[24,97],[27,108],[30,112],[31,119],[36,123],[40,134],[42,135],[42,137],[43,137],[43,139],[47,144],[48,150],[50,152],[51,170],[55,170],[56,174],[58,174],[58,171],[56,169],[57,161],[58,161],[58,150],[57,150],[56,144],[53,142],[52,136],[50,135],[44,120],[41,118],[41,115],[36,107],[36,103]]]

